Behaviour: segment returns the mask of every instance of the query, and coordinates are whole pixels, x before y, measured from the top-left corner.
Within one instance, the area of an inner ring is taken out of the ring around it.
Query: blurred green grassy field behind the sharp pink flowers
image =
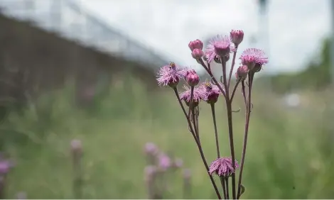
[[[29,199],[73,198],[70,140],[74,138],[82,140],[84,147],[85,199],[146,198],[146,142],[183,158],[193,172],[193,198],[215,198],[170,90],[149,92],[131,79],[99,94],[87,109],[78,109],[72,94],[72,87],[45,94],[23,112],[10,113],[1,124],[3,148],[16,162],[8,177],[7,198],[14,198],[18,191],[25,191]],[[325,100],[318,98],[316,104],[291,110],[272,94],[257,91],[253,96],[243,198],[333,199],[333,115],[323,109]],[[218,130],[222,154],[229,155],[221,100]],[[238,93],[235,109],[243,108],[241,102]],[[234,121],[239,160],[243,110],[234,114]],[[210,162],[215,159],[215,140],[207,104],[200,108],[200,134]],[[178,174],[169,198],[182,198]]]

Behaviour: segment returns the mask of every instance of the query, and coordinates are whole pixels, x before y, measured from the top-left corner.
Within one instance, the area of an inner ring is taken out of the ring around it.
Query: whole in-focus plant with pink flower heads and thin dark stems
[[[218,199],[222,199],[220,191],[217,189],[217,184],[212,178],[213,174],[217,174],[218,177],[224,178],[222,180],[222,189],[225,199],[229,198],[229,189],[227,189],[228,179],[232,179],[232,198],[239,199],[242,195],[240,189],[244,188],[242,185],[242,172],[244,169],[245,152],[247,148],[247,135],[249,127],[250,111],[252,108],[252,85],[254,81],[254,74],[260,72],[262,67],[268,63],[268,57],[266,57],[263,50],[256,48],[248,48],[244,50],[239,56],[241,65],[235,70],[235,59],[237,57],[237,50],[239,45],[244,40],[244,32],[242,30],[231,30],[229,35],[217,35],[210,40],[205,50],[203,50],[203,42],[201,40],[190,41],[188,47],[191,51],[191,56],[200,64],[204,70],[211,77],[210,82],[200,82],[199,75],[195,70],[190,68],[181,69],[175,63],[165,65],[161,67],[158,72],[158,84],[169,86],[173,89],[176,94],[176,99],[183,110],[184,116],[188,122],[188,129],[193,135],[200,156],[205,164],[206,170],[210,177],[212,186],[215,189]],[[232,54],[232,56],[230,56]],[[232,65],[230,72],[227,72],[227,61],[232,57]],[[222,67],[222,77],[220,80],[215,79],[211,72],[210,64],[216,62]],[[235,80],[232,80],[232,74],[235,73]],[[188,85],[183,86],[183,91],[178,91],[178,84],[184,79]],[[231,87],[231,83],[235,82],[234,86]],[[232,100],[235,97],[237,87],[241,85],[242,97],[244,99],[244,110],[245,110],[245,128],[244,128],[244,141],[242,146],[242,156],[240,166],[235,159],[235,142],[233,140],[233,121],[232,121]],[[227,111],[227,124],[228,133],[230,138],[230,157],[220,157],[220,148],[217,131],[217,120],[215,114],[215,104],[219,100],[219,97],[223,96],[225,99],[225,106]],[[198,129],[199,123],[199,106],[200,101],[205,101],[210,104],[212,111],[213,130],[215,133],[215,145],[217,149],[217,159],[213,161],[208,167],[208,163],[203,154],[202,145],[200,142],[200,130]],[[188,106],[188,111],[185,109],[185,104]],[[166,158],[163,158],[164,162]],[[162,162],[162,161],[161,161]],[[235,173],[239,169],[239,179],[236,182]],[[225,184],[226,182],[226,184]],[[223,184],[224,183],[224,184]]]

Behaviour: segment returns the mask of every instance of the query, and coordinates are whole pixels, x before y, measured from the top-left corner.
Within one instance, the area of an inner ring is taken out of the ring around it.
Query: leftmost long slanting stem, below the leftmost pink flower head
[[[205,169],[206,169],[206,171],[208,172],[208,175],[209,175],[209,177],[210,177],[210,181],[211,181],[211,183],[212,183],[212,186],[213,186],[213,188],[215,189],[215,192],[216,192],[216,194],[217,194],[218,199],[222,199],[222,196],[220,196],[219,190],[218,190],[217,185],[216,185],[216,183],[215,183],[215,180],[213,179],[212,175],[209,173],[208,162],[205,160],[205,156],[204,156],[202,147],[200,146],[200,143],[199,143],[198,139],[196,138],[196,135],[195,135],[194,130],[193,130],[193,126],[191,126],[190,118],[188,117],[188,114],[187,114],[187,112],[185,111],[185,108],[184,108],[184,106],[183,106],[183,104],[182,104],[182,101],[181,101],[181,99],[180,99],[180,96],[178,95],[178,89],[177,89],[176,87],[174,87],[173,90],[174,90],[174,93],[175,93],[175,95],[176,95],[176,98],[178,99],[178,103],[180,104],[181,109],[182,109],[182,111],[183,111],[183,113],[184,113],[184,115],[185,115],[185,118],[186,118],[187,121],[188,121],[188,125],[189,125],[189,128],[190,128],[190,133],[193,135],[193,138],[195,139],[195,142],[196,142],[196,145],[197,145],[197,147],[198,147],[198,150],[200,151],[200,157],[202,158],[202,160],[203,160],[203,164],[205,165]]]

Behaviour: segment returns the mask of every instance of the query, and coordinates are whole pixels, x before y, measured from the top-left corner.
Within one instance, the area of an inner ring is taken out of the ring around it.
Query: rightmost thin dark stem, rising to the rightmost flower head
[[[241,156],[241,161],[240,161],[240,172],[239,172],[239,181],[238,181],[238,195],[237,199],[240,198],[241,194],[241,184],[242,184],[242,172],[244,170],[244,157],[246,155],[246,148],[247,148],[247,138],[248,138],[248,129],[249,129],[249,119],[250,119],[250,113],[251,113],[251,106],[252,106],[252,101],[251,101],[251,96],[252,96],[252,84],[253,84],[253,72],[249,72],[248,74],[248,99],[246,100],[245,94],[244,94],[244,100],[245,100],[245,106],[246,106],[246,119],[245,119],[245,124],[244,124],[244,142],[242,146],[242,156]],[[242,91],[244,93],[244,84],[242,84]]]

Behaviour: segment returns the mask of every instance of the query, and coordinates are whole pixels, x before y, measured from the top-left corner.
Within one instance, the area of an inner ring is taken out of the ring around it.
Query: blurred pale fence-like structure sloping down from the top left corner
[[[156,67],[168,63],[152,48],[115,30],[72,0],[0,0],[0,11],[5,16],[30,21],[39,28],[126,60]]]

